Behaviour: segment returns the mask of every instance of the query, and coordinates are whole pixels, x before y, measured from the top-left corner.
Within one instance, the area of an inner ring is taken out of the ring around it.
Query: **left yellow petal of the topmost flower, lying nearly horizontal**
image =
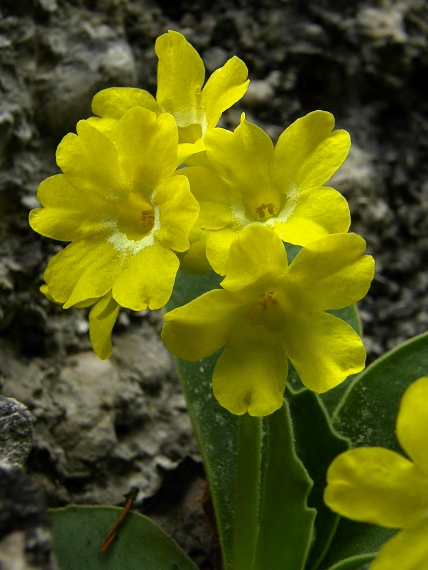
[[[99,117],[118,120],[133,107],[143,107],[157,115],[161,112],[153,95],[135,87],[110,87],[99,91],[92,99],[92,112]]]

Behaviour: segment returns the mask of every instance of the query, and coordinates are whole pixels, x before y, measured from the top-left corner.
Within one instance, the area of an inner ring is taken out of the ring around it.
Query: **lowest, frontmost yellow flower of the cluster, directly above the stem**
[[[281,407],[287,358],[315,392],[364,367],[360,337],[328,309],[361,299],[374,262],[365,242],[334,234],[303,248],[288,265],[283,243],[262,225],[243,230],[230,248],[221,285],[165,315],[162,339],[184,360],[226,346],[213,374],[219,403],[234,414],[265,416]]]

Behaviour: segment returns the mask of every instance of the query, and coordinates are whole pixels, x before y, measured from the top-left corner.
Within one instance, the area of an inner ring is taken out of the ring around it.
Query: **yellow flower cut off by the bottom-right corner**
[[[397,438],[410,460],[383,447],[359,447],[336,457],[327,473],[324,500],[333,511],[402,529],[371,570],[428,568],[428,377],[404,392]]]

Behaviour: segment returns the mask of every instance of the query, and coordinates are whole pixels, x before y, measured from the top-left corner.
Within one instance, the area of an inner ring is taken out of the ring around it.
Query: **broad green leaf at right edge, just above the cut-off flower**
[[[381,446],[400,451],[395,422],[401,397],[428,374],[428,333],[417,336],[376,360],[359,374],[333,415],[335,428],[353,447]]]

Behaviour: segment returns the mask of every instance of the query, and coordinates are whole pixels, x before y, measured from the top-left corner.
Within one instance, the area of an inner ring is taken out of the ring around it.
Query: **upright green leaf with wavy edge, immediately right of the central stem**
[[[316,514],[307,507],[312,481],[294,449],[287,402],[263,423],[260,530],[254,569],[301,570]]]

